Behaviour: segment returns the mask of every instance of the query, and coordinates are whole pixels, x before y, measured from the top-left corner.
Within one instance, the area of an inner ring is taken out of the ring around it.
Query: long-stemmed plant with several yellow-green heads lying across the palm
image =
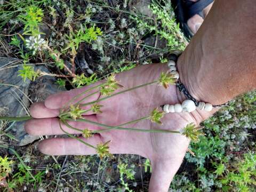
[[[59,125],[60,129],[66,133],[69,137],[74,138],[82,143],[84,145],[91,147],[97,151],[98,156],[102,159],[103,157],[111,157],[112,155],[109,153],[109,143],[110,141],[107,141],[106,143],[98,143],[97,146],[92,146],[91,144],[85,142],[83,139],[75,137],[73,134],[70,134],[68,131],[62,129],[62,125],[66,125],[69,129],[76,130],[81,133],[83,138],[90,138],[93,137],[95,133],[101,133],[101,132],[106,132],[110,130],[124,130],[124,131],[136,131],[136,132],[149,132],[149,133],[173,133],[173,134],[182,134],[191,139],[192,141],[198,141],[199,136],[203,135],[203,133],[200,131],[202,128],[201,127],[196,127],[194,124],[188,124],[184,129],[183,132],[180,131],[171,131],[171,130],[166,130],[166,129],[150,129],[150,130],[145,130],[145,129],[139,129],[137,127],[129,128],[129,127],[124,127],[129,124],[134,124],[140,121],[145,121],[145,120],[150,120],[153,123],[157,124],[163,124],[161,122],[161,119],[164,117],[165,113],[159,108],[155,108],[153,111],[151,111],[150,115],[140,117],[138,119],[134,119],[130,122],[126,122],[117,126],[110,126],[110,125],[105,125],[101,124],[98,122],[91,121],[89,119],[86,119],[83,117],[83,114],[91,111],[93,114],[99,114],[103,113],[101,108],[103,107],[100,105],[100,102],[103,100],[107,100],[111,97],[114,97],[115,95],[118,94],[123,94],[125,92],[129,92],[135,89],[140,89],[143,86],[148,86],[152,84],[161,84],[165,89],[167,89],[170,85],[175,84],[175,78],[167,72],[167,73],[162,73],[156,81],[141,84],[138,86],[134,86],[128,89],[122,89],[119,90],[119,88],[123,88],[122,85],[119,84],[118,81],[116,81],[115,75],[111,74],[106,78],[106,81],[92,86],[86,91],[76,95],[74,98],[72,98],[70,101],[68,101],[65,106],[63,106],[60,109],[59,113]],[[91,102],[85,102],[86,98],[91,97],[93,94],[101,94],[102,97]],[[84,109],[86,108],[86,109]],[[31,117],[0,117],[0,119],[9,119],[11,121],[24,121],[27,119],[30,119]],[[103,129],[99,130],[89,130],[89,129],[77,129],[76,127],[73,127],[69,124],[71,121],[79,121],[79,122],[86,122],[89,124],[97,125],[99,127],[102,127]]]

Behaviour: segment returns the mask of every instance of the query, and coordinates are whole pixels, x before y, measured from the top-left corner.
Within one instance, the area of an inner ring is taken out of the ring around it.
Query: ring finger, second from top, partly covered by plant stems
[[[91,106],[84,106],[82,109],[88,110]],[[33,103],[29,109],[30,115],[34,118],[52,118],[58,117],[60,114],[59,109],[49,109],[45,107],[44,102]],[[92,111],[87,111],[83,115],[92,115],[94,114]]]

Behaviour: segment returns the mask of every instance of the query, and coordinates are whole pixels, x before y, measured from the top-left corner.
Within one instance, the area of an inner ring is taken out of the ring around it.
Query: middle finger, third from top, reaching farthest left
[[[90,121],[97,122],[97,118],[94,115],[86,116],[86,119]],[[97,125],[93,125],[86,122],[75,122],[68,121],[70,126],[75,127],[78,130],[71,129],[61,123],[61,127],[64,131],[70,134],[81,134],[82,130],[98,130]],[[58,118],[45,118],[45,119],[30,119],[25,123],[25,131],[30,135],[59,135],[66,134],[60,129],[59,119]]]

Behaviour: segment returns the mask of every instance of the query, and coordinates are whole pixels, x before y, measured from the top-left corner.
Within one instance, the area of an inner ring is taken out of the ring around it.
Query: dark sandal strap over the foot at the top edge
[[[199,0],[187,7],[187,18],[193,17],[195,14],[202,12],[206,6],[210,5],[213,0]],[[201,15],[202,17],[202,15]]]

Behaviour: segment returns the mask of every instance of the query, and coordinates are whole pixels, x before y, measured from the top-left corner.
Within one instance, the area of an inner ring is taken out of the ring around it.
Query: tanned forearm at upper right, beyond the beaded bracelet
[[[178,60],[180,79],[197,100],[213,105],[256,88],[256,4],[215,0]]]

